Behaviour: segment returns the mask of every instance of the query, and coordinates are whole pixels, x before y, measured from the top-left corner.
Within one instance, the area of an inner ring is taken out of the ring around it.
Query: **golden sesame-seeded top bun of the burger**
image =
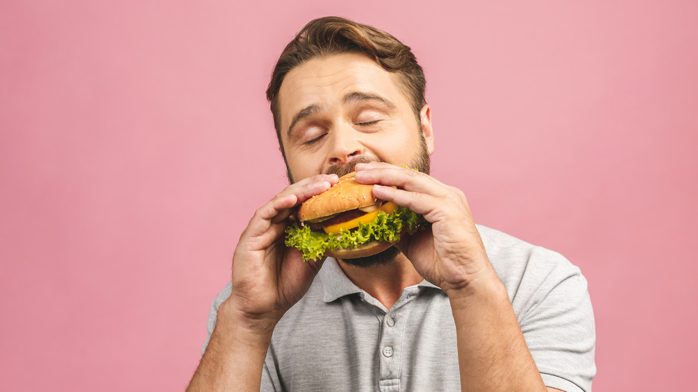
[[[298,209],[299,220],[316,220],[376,204],[378,199],[373,197],[373,185],[357,183],[354,174],[356,172],[339,177],[332,188],[303,202]]]

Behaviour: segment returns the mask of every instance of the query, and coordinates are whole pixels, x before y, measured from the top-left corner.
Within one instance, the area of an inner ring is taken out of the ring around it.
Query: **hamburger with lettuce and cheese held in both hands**
[[[322,255],[354,259],[383,252],[414,234],[425,220],[410,209],[373,197],[373,185],[360,184],[355,172],[298,209],[299,223],[286,229],[285,245],[303,252],[304,261]]]

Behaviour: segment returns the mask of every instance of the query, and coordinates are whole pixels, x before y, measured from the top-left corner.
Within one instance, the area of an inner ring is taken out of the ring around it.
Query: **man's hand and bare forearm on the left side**
[[[232,257],[232,293],[218,308],[216,327],[187,391],[259,391],[274,326],[308,291],[320,271],[283,244],[295,206],[339,181],[336,174],[298,181],[262,206]]]

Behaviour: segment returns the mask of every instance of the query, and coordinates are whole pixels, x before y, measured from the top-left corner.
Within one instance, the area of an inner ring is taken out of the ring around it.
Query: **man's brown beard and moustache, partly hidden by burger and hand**
[[[424,135],[419,133],[421,136],[420,148],[416,156],[410,162],[410,169],[417,169],[419,172],[429,174],[431,172],[431,160],[429,158],[429,151],[426,149],[426,140],[424,140]],[[346,165],[333,165],[327,169],[325,174],[336,174],[338,176],[343,176],[354,172],[354,168],[359,163],[369,163],[376,161],[376,159],[371,159],[368,156],[359,156],[355,159],[350,160]],[[341,262],[350,266],[357,266],[359,268],[367,268],[369,266],[385,265],[393,262],[395,258],[400,255],[401,252],[395,246],[391,246],[383,252],[376,253],[373,256],[357,257],[355,259],[341,259]]]

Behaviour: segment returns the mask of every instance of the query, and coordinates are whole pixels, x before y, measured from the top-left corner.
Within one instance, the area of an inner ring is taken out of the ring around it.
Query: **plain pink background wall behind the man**
[[[341,15],[426,70],[433,174],[589,281],[595,391],[694,385],[695,1],[4,1],[0,379],[182,390],[253,211],[285,186],[264,91]]]

